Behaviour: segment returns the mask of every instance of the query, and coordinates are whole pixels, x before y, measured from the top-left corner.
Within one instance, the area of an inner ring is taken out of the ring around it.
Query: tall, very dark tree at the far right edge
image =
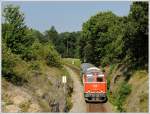
[[[148,2],[131,5],[126,24],[125,48],[138,66],[148,63]]]

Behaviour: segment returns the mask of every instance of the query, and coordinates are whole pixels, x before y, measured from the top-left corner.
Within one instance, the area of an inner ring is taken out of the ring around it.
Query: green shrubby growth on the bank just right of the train
[[[115,83],[113,86],[111,85],[111,80],[113,76],[116,75],[118,68],[118,64],[113,64],[109,67],[108,75],[107,75],[107,86],[108,86],[108,100],[109,102],[116,107],[115,111],[118,112],[124,112],[123,108],[123,102],[125,101],[126,97],[131,92],[131,85],[129,85],[126,81],[124,81],[124,78],[120,79],[117,83]],[[110,90],[110,86],[112,86]],[[112,91],[112,95],[110,95],[110,91]]]

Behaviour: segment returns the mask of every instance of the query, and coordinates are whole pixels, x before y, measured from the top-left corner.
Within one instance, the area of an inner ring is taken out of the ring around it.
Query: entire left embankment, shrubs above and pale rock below
[[[3,112],[55,112],[56,104],[59,104],[59,112],[71,109],[72,80],[58,57],[55,58],[52,49],[46,46],[39,48],[35,52],[36,60],[30,61],[11,53],[5,45],[2,51]],[[54,58],[51,60],[46,56]],[[57,66],[51,66],[54,64]],[[63,91],[63,75],[68,76],[66,95]]]

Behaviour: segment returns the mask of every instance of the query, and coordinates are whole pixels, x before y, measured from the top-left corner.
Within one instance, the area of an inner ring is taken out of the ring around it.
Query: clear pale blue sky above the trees
[[[82,30],[82,24],[101,11],[112,11],[118,16],[127,16],[131,1],[22,1],[2,2],[2,9],[8,5],[19,5],[25,14],[28,27],[44,32],[55,26],[60,32]],[[3,19],[2,19],[3,21]]]

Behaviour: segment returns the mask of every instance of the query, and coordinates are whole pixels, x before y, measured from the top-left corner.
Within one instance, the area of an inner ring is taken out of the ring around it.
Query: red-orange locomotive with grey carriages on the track
[[[107,80],[100,68],[90,63],[81,64],[81,78],[86,102],[107,102]]]

